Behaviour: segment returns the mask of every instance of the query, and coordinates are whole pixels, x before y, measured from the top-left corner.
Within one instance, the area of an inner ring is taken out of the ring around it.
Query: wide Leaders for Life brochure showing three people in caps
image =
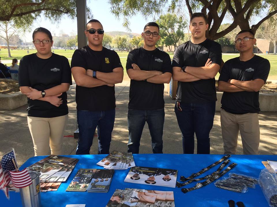
[[[132,167],[124,182],[175,187],[177,170],[149,167]]]

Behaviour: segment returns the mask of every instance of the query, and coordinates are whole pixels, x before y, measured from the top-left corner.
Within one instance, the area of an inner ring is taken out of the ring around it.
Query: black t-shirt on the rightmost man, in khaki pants
[[[251,81],[257,78],[266,81],[269,70],[270,63],[263,57],[254,55],[248,61],[240,61],[239,57],[235,57],[226,61],[218,81],[227,82],[229,79]],[[222,109],[232,114],[258,113],[259,91],[223,92],[221,104]]]

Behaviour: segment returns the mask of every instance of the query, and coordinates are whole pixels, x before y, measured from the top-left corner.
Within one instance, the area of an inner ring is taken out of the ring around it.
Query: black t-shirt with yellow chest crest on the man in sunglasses
[[[73,67],[109,73],[115,68],[122,68],[122,65],[115,51],[105,47],[102,51],[94,51],[85,46],[75,50],[71,60]],[[77,110],[112,110],[115,108],[115,87],[103,85],[87,88],[76,85],[76,103]]]

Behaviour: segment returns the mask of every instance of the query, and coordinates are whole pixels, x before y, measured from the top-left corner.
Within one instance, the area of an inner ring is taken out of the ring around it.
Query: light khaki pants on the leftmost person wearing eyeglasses
[[[63,132],[68,114],[53,118],[28,116],[28,126],[33,139],[35,156],[63,154]]]

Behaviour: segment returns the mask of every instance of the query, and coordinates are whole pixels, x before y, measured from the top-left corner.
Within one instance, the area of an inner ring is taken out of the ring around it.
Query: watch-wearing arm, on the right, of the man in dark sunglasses
[[[87,70],[87,75],[92,76],[93,70]],[[113,72],[105,73],[96,71],[96,78],[108,83],[109,85],[114,85],[116,83],[122,83],[123,80],[123,68],[114,68]]]

